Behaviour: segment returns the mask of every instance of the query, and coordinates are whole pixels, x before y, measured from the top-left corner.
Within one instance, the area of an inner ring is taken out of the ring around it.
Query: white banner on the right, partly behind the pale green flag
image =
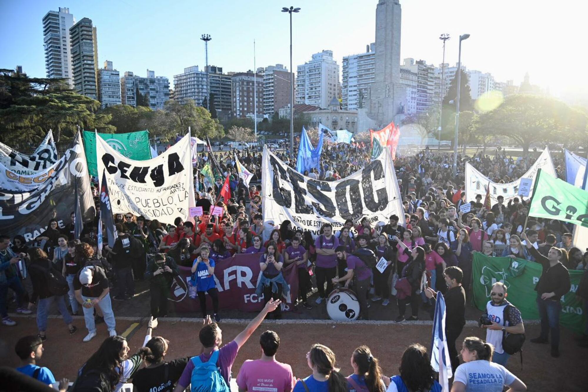
[[[549,155],[549,149],[544,149],[539,158],[533,163],[533,166],[527,170],[526,173],[522,176],[522,178],[527,178],[532,180],[532,185],[530,187],[529,197],[533,196],[533,184],[535,182],[535,177],[537,176],[537,170],[541,169],[542,172],[547,172],[553,177],[556,177],[555,169],[553,167],[553,162],[551,156]],[[466,201],[467,202],[475,202],[476,195],[482,195],[484,197],[486,195],[486,191],[488,186],[490,186],[490,201],[492,205],[495,205],[498,202],[497,197],[503,196],[505,198],[504,203],[505,205],[513,199],[513,197],[517,196],[519,193],[519,185],[520,179],[517,179],[513,182],[509,182],[506,184],[501,184],[497,182],[492,182],[488,177],[480,173],[478,170],[475,169],[469,162],[466,162]]]

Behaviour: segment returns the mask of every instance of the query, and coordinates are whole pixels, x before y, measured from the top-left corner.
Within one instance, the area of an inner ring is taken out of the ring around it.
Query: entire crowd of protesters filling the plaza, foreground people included
[[[141,385],[139,390],[151,390],[160,384],[164,388],[158,390],[172,390],[173,385],[178,384],[176,390],[179,391],[188,384],[200,382],[193,370],[205,367],[208,361],[216,362],[221,378],[228,383],[230,367],[239,347],[264,318],[282,318],[279,299],[288,294],[282,270],[295,264],[299,278],[299,298],[295,306],[306,309],[324,306],[323,302],[337,286],[351,287],[360,302],[359,319],[370,318],[370,303],[389,306],[390,299],[395,296],[399,313],[395,321],[402,323],[419,320],[421,308],[432,313],[436,292],[442,292],[446,296],[447,341],[451,366],[455,371],[453,390],[476,390],[468,385],[467,373],[473,371],[497,373],[500,377],[496,379],[503,380],[503,385],[510,385],[513,390],[524,390],[522,381],[503,367],[507,354],[500,346],[497,334],[493,334],[493,331],[501,334],[520,334],[521,330],[524,331],[520,312],[517,313],[516,307],[506,301],[506,287],[492,288],[493,297],[485,313],[490,320],[490,324],[484,326],[488,329],[487,342],[466,338],[460,354],[466,363],[459,364],[456,341],[465,325],[466,299],[471,297],[473,253],[516,257],[542,264],[543,273],[536,285],[537,307],[542,319],[541,334],[531,341],[547,343],[551,336],[553,357],[559,357],[559,316],[562,307],[559,299],[570,289],[568,270],[584,270],[577,294],[588,303],[588,252],[583,253],[574,247],[570,234],[572,227],[557,220],[527,219],[528,200],[522,197],[515,197],[506,204],[499,197],[495,205],[485,206],[482,202],[484,195],[476,195],[476,202],[470,203],[470,212],[460,213],[459,207],[466,203],[463,172],[460,170],[457,177],[453,177],[449,155],[426,149],[417,155],[396,159],[397,179],[404,198],[402,219],[392,215],[387,222],[372,224],[370,217],[366,216],[358,222],[348,220],[340,230],[325,224],[316,238],[310,232],[296,229],[288,220],[264,222],[261,187],[248,187],[243,183],[236,173],[235,157],[253,173],[253,183],[260,180],[259,152],[218,153],[216,160],[222,175],[231,179],[233,197],[226,202],[216,199],[215,195],[220,193],[223,185],[221,177],[210,187],[205,187],[202,176],[196,177],[196,206],[203,207],[203,216],[195,223],[177,218],[174,225],[162,225],[157,220],[150,221],[131,213],[117,214],[113,218],[118,239],[112,249],[105,246],[102,253],[97,249],[98,220],[85,225],[81,239],[76,240],[73,214],[71,222],[61,229],[56,220],[48,222],[45,232],[32,244],[26,244],[21,236],[14,239],[0,236],[2,323],[6,326],[16,324],[8,316],[9,289],[14,292],[17,313],[31,313],[36,304],[39,333],[23,343],[26,350],[31,350],[28,353],[20,350],[19,356],[24,353],[21,359],[31,363],[32,358],[32,364],[35,364],[35,351],[39,351],[42,342],[47,339],[48,307],[55,301],[70,334],[77,330],[71,314],[82,312],[88,330],[83,341],[96,336],[97,323],[105,323],[108,329],[109,337],[79,372],[79,380],[89,380],[84,383],[103,384],[105,388],[102,390],[119,390],[122,383],[136,373],[142,374],[141,378],[133,378],[133,383],[136,379],[136,384]],[[295,166],[288,152],[278,152],[278,157],[286,164]],[[212,155],[201,155],[197,167],[202,167],[209,159]],[[471,158],[460,157],[458,167],[463,167],[466,160],[487,173],[492,180],[505,183],[520,177],[534,162],[530,155],[512,159],[501,150],[493,158],[482,152]],[[305,174],[327,181],[338,180],[369,162],[369,149],[363,143],[326,145],[320,167]],[[562,172],[557,160],[556,166],[557,171]],[[97,195],[96,188],[94,192]],[[215,205],[223,209],[221,219],[209,213],[210,207]],[[402,220],[405,225],[400,225]],[[256,292],[263,293],[265,307],[243,333],[218,350],[222,335],[217,324],[220,321],[219,296],[213,274],[221,260],[240,253],[259,253],[262,273]],[[387,262],[383,272],[373,263],[373,260],[382,257]],[[22,284],[26,266],[32,282],[31,294]],[[166,299],[172,279],[179,274],[179,266],[191,268],[191,297],[193,300],[198,297],[205,320],[200,333],[203,353],[168,363],[164,357],[169,342],[163,337],[151,338],[149,334],[139,353],[128,358],[126,341],[116,333],[111,300],[131,299],[135,296],[136,281],[146,280],[151,294],[152,320],[149,325],[156,328],[158,319],[168,316]],[[59,273],[65,282],[61,290],[55,287],[58,281],[61,282],[58,278],[54,279],[55,284],[51,284],[53,279],[44,279]],[[316,286],[318,296],[311,304],[309,296],[313,293],[313,286]],[[212,312],[206,307],[206,294],[212,299]],[[406,317],[408,304],[411,314]],[[492,317],[505,307],[509,309],[510,318],[507,324],[499,325],[495,322],[496,317]],[[372,314],[372,318],[377,316]],[[588,327],[580,336],[579,344],[588,346]],[[400,375],[394,377],[383,376],[368,347],[358,347],[351,360],[354,374],[345,378],[337,371],[333,351],[315,344],[307,354],[312,376],[296,383],[291,368],[275,361],[279,346],[277,334],[266,331],[260,338],[260,345],[263,354],[261,359],[256,360],[259,363],[246,362],[247,366],[244,365],[241,370],[244,373],[237,378],[240,390],[255,389],[259,373],[268,371],[268,364],[263,363],[268,361],[283,376],[274,377],[276,381],[283,381],[278,390],[439,390],[426,350],[419,345],[412,345],[405,351]],[[146,367],[138,370],[142,361]],[[162,364],[166,364],[165,373],[161,371]],[[23,373],[32,375],[29,370]],[[45,384],[56,382],[52,376],[43,380]],[[222,387],[219,377],[215,380]],[[83,390],[81,386],[78,388]],[[496,390],[502,390],[502,386]]]

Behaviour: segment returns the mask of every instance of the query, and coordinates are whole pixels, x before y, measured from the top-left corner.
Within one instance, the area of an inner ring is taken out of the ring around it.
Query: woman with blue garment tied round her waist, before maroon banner
[[[284,259],[282,254],[277,252],[278,246],[271,241],[266,246],[265,253],[259,258],[259,267],[262,274],[258,280],[258,286],[255,294],[260,296],[263,293],[263,301],[267,304],[270,299],[279,300],[282,298],[282,292],[287,296],[290,289],[288,283],[282,275],[282,266]],[[268,313],[268,317],[273,314],[276,320],[282,319],[282,307],[278,306],[276,310]]]

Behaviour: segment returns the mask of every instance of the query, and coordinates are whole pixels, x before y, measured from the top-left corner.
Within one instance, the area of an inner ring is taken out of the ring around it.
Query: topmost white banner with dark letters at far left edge
[[[2,173],[11,170],[16,175],[34,176],[48,169],[58,160],[57,148],[51,130],[32,155],[24,155],[0,142],[0,168]]]

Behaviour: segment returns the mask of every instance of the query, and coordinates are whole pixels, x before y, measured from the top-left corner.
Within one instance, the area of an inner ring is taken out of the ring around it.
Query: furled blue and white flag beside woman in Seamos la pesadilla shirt
[[[431,366],[439,372],[439,384],[443,392],[449,392],[449,378],[453,376],[447,339],[445,337],[445,298],[437,292],[435,304],[435,318],[433,319],[433,336],[431,339]]]

